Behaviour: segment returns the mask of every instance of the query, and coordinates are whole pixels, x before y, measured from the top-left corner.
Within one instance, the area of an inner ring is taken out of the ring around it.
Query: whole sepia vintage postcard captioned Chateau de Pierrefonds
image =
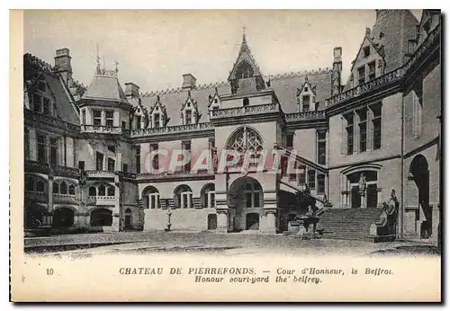
[[[440,302],[440,10],[11,12],[11,299]]]

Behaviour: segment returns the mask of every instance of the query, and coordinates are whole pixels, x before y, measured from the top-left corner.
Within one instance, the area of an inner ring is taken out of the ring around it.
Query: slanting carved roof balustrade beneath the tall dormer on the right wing
[[[393,82],[400,81],[403,77],[403,74],[404,74],[403,67],[394,69],[391,72],[387,73],[386,75],[379,76],[376,79],[369,81],[365,84],[358,85],[353,89],[348,90],[347,92],[340,93],[338,95],[330,97],[328,100],[325,100],[325,105],[328,107],[338,102],[344,102],[350,98],[361,96],[365,93],[374,91],[375,89],[385,84],[391,84]]]

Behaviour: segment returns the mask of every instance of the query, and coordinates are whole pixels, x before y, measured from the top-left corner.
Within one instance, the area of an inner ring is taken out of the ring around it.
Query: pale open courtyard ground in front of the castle
[[[54,235],[25,238],[25,252],[48,254],[203,252],[229,255],[287,253],[320,255],[434,254],[436,246],[422,241],[373,243],[361,240],[310,239],[285,235],[225,234],[211,232],[121,232]]]

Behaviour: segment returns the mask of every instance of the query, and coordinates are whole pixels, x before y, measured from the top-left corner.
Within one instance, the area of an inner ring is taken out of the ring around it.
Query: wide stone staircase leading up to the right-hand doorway
[[[318,223],[324,238],[373,240],[370,227],[382,215],[382,209],[325,209]]]

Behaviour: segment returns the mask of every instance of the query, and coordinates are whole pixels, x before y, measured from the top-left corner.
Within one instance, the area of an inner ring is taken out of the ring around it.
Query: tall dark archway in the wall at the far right
[[[410,173],[418,189],[420,237],[428,238],[432,234],[432,210],[429,206],[429,171],[424,155],[416,155],[410,164]]]

